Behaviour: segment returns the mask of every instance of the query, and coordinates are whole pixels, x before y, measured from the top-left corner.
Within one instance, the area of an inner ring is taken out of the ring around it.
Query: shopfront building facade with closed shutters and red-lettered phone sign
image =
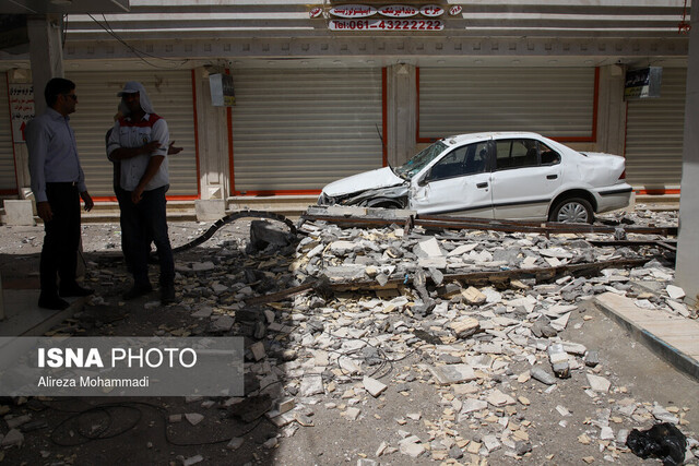
[[[98,200],[112,195],[104,134],[129,80],[185,147],[171,199],[313,195],[439,138],[511,130],[624,155],[637,192],[678,192],[682,0],[182,3],[132,0],[128,12],[59,21],[78,84],[71,123]],[[625,99],[628,72],[649,67],[662,70],[660,95]],[[0,51],[4,196],[28,187],[17,127],[29,70],[27,52]],[[232,77],[233,106],[213,105],[216,75]]]

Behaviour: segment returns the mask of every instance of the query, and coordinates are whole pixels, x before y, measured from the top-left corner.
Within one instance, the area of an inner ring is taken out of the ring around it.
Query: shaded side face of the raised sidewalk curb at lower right
[[[643,344],[651,351],[673,365],[677,370],[684,372],[696,381],[699,381],[699,361],[675,348],[645,328],[642,328],[638,324],[629,321],[626,316],[618,313],[613,307],[601,302],[596,297],[593,302],[597,309],[612,318],[617,324],[626,328],[633,339]]]

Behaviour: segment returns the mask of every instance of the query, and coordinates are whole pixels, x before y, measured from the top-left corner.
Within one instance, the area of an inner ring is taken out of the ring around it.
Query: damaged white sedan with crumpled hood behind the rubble
[[[418,214],[592,223],[629,205],[624,158],[583,153],[530,132],[446,138],[400,167],[325,186],[320,205],[410,208]]]

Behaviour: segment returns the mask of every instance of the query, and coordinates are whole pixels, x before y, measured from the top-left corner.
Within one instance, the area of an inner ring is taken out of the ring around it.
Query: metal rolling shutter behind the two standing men
[[[197,156],[191,72],[111,71],[67,73],[75,82],[78,109],[71,115],[80,160],[92,195],[114,195],[112,168],[105,152],[105,133],[114,126],[121,91],[127,81],[140,81],[155,111],[167,121],[170,141],[185,150],[169,159],[168,195],[197,195]]]

